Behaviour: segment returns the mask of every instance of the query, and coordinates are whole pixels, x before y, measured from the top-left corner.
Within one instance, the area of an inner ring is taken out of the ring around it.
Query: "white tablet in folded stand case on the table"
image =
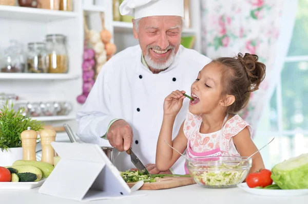
[[[118,198],[131,189],[100,146],[89,143],[51,143],[61,160],[39,193],[78,201]]]

